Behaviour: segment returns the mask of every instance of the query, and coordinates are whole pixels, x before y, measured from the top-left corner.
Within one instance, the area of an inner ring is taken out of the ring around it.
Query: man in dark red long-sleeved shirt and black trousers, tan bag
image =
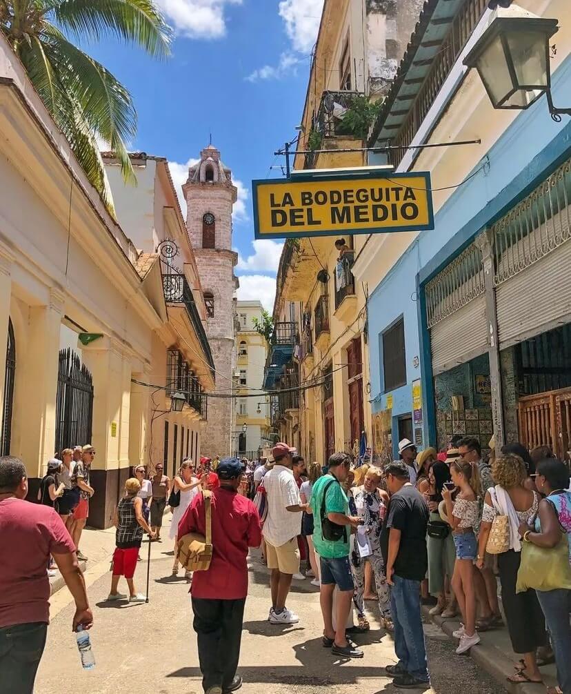
[[[207,694],[225,694],[242,685],[236,675],[244,605],[248,594],[248,548],[259,547],[262,527],[256,507],[238,494],[243,475],[237,458],[221,460],[220,486],[212,491],[212,561],[196,571],[190,589],[198,659]],[[206,534],[204,497],[198,494],[178,525],[178,537]]]

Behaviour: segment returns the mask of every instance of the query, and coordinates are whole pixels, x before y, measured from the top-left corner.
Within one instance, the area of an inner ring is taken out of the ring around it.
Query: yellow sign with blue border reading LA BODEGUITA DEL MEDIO
[[[254,180],[256,239],[434,229],[430,174]]]

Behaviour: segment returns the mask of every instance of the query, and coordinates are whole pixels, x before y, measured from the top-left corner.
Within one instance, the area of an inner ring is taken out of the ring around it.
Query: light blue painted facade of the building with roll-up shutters
[[[571,56],[563,60],[552,76],[552,85],[554,101],[568,106]],[[451,108],[454,108],[453,104]],[[437,436],[435,380],[427,325],[427,283],[458,258],[483,230],[491,228],[570,158],[571,119],[559,123],[553,121],[545,99],[540,99],[528,110],[520,112],[491,149],[484,153],[466,178],[467,182],[454,189],[436,213],[434,230],[421,232],[382,282],[375,288],[370,287],[370,398],[373,416],[391,410],[393,456],[397,457],[398,440],[411,423],[419,448],[434,445],[437,439],[442,444],[441,437]],[[571,270],[568,281],[571,282]],[[525,296],[522,296],[522,301],[525,301]],[[384,382],[386,355],[383,335],[400,316],[404,320],[406,383],[391,390]],[[461,390],[463,380],[469,379],[473,383],[479,377],[481,390],[486,393],[474,393],[466,408],[489,408],[484,377],[487,375],[489,378],[490,371],[486,366],[487,359],[475,359],[465,367],[459,364],[457,369],[448,370],[447,375],[438,380],[438,397],[446,398],[447,391],[452,397],[453,393]],[[417,416],[415,423],[413,410],[418,403],[413,402],[413,386],[418,379],[422,387],[422,413],[421,419]],[[407,423],[406,426],[403,422]],[[493,430],[494,427],[490,435]]]

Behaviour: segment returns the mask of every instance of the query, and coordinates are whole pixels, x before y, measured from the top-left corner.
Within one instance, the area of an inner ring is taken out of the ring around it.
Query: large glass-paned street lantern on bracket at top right
[[[463,63],[477,69],[494,108],[523,110],[545,94],[555,121],[571,115],[571,108],[555,108],[551,96],[549,39],[557,24],[517,5],[493,12]]]

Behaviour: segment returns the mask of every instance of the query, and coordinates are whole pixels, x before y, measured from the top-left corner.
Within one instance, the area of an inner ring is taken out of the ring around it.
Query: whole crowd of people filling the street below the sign
[[[134,583],[139,552],[145,533],[150,542],[162,541],[169,508],[173,575],[184,563],[185,539],[211,545],[203,570],[183,566],[207,694],[241,686],[247,557],[259,546],[269,570],[269,623],[300,621],[288,607],[291,584],[312,579],[320,592],[323,647],[358,659],[364,650],[357,637],[370,629],[367,602],[374,600],[382,628],[393,634],[398,663],[385,671],[397,688],[429,686],[424,603],[432,615],[460,614],[459,654],[477,645],[481,632],[504,627],[505,619],[522,656],[510,682],[540,683],[540,667],[555,661],[559,687],[549,694],[571,694],[570,471],[545,447],[530,453],[511,443],[496,452],[493,439],[490,446],[484,457],[477,439],[453,437],[446,451],[417,452],[403,439],[400,458],[382,468],[355,468],[344,452],[326,466],[307,465],[287,443],[276,443],[257,462],[185,459],[173,479],[160,463],[150,474],[136,466],[114,513],[108,600],[147,600]],[[46,639],[50,562],[76,602],[74,629],[92,625],[78,558],[85,559],[79,541],[94,493],[94,455],[87,445],[51,459],[38,504],[25,500],[22,462],[0,458],[0,679],[9,691],[33,691]],[[121,577],[128,594],[119,592]]]

